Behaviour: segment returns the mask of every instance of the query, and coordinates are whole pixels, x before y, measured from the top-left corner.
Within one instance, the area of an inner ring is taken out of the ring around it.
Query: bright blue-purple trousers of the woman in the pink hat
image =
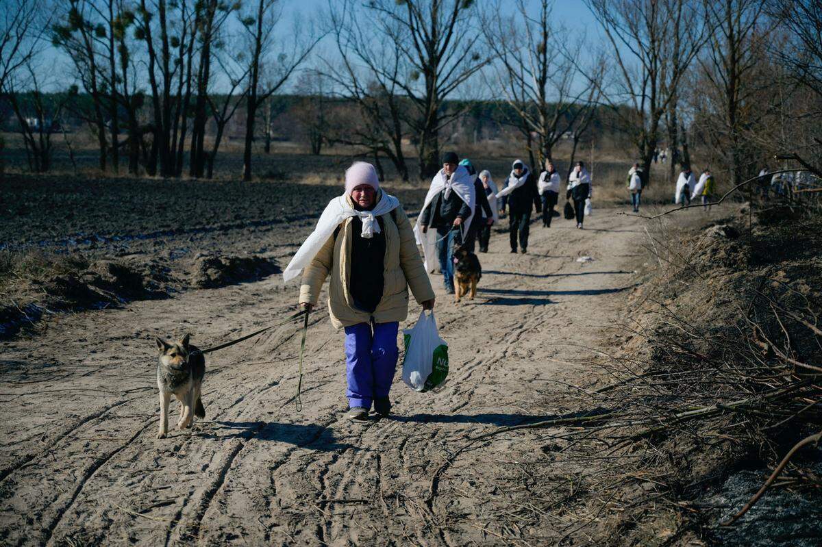
[[[399,358],[399,323],[358,323],[345,328],[346,396],[349,407],[371,408],[388,397]]]

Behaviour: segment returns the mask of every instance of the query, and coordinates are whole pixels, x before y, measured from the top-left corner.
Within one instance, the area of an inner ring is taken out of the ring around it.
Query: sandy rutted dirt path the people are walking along
[[[451,370],[439,393],[397,376],[395,417],[344,419],[342,336],[312,315],[304,408],[294,410],[296,328],[206,360],[206,421],[155,439],[157,333],[212,345],[293,310],[275,276],[122,310],[53,319],[0,346],[0,541],[4,545],[491,545],[534,480],[544,441],[522,430],[451,458],[464,438],[533,420],[556,384],[595,373],[564,342],[602,346],[624,309],[630,218],[602,210],[580,232],[533,225],[529,255],[495,234],[478,299],[455,306],[434,276]],[[287,251],[287,250],[286,250]],[[284,251],[284,252],[286,252]],[[293,252],[293,251],[292,251]],[[596,260],[579,264],[575,258]],[[418,307],[409,314],[416,319]],[[557,409],[559,411],[559,409]],[[170,418],[177,418],[173,406]],[[541,414],[544,416],[544,413]],[[518,535],[556,540],[528,513]],[[513,533],[513,532],[512,532]],[[72,543],[74,540],[74,543]]]

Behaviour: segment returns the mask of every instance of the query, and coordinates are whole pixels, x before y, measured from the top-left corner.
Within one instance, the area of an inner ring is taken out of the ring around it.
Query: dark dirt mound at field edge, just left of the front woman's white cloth
[[[277,264],[261,256],[198,255],[192,268],[191,284],[198,288],[223,287],[281,272]]]

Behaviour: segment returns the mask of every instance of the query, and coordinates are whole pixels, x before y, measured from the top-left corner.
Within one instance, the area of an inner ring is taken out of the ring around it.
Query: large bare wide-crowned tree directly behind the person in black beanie
[[[478,39],[472,0],[373,0],[359,13],[359,25],[377,41],[397,44],[398,58],[369,67],[410,99],[406,122],[416,137],[420,177],[440,168],[439,132],[462,110],[446,112],[445,101],[469,91],[469,78],[488,62]],[[398,70],[397,70],[398,69]],[[392,72],[396,71],[396,76]]]

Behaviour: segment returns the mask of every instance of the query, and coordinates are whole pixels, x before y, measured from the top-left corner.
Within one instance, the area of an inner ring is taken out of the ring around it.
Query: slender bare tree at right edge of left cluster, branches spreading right
[[[281,4],[282,0],[256,0],[255,10],[240,16],[242,25],[247,30],[252,52],[248,65],[246,138],[242,153],[243,181],[250,181],[252,178],[252,145],[257,109],[289,80],[293,71],[302,65],[321,38],[312,37],[310,33],[302,33],[303,43],[295,44],[301,31],[294,28],[289,44],[281,44],[276,48],[275,32],[282,20]]]

